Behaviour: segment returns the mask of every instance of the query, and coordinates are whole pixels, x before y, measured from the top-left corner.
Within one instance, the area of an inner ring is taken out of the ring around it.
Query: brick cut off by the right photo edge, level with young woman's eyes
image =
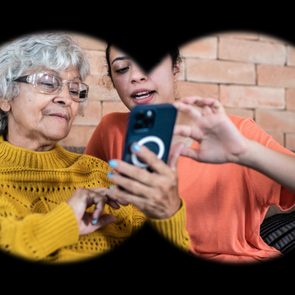
[[[295,88],[295,68],[258,65],[258,85]]]

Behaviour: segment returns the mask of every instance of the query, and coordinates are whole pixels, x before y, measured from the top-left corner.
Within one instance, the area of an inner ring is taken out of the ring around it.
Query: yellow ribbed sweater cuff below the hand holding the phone
[[[134,227],[138,228],[146,220],[144,214],[137,210],[133,217]],[[186,230],[186,210],[185,203],[182,200],[179,210],[167,219],[148,219],[151,225],[163,235],[164,238],[178,246],[180,249],[190,250],[190,238]]]

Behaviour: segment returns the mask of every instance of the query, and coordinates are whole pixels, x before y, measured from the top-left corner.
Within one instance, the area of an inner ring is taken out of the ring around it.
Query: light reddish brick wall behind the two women
[[[103,115],[126,111],[106,75],[105,43],[73,35],[91,63],[89,101],[64,145],[84,146]],[[183,57],[178,96],[219,99],[228,113],[252,117],[295,150],[295,48],[284,40],[249,32],[226,32],[192,40]]]

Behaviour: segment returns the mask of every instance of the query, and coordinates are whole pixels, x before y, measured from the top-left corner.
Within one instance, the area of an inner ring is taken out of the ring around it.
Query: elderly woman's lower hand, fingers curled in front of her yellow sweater
[[[116,220],[113,215],[102,215],[105,203],[115,209],[119,207],[114,201],[108,199],[106,192],[106,188],[79,188],[68,200],[78,222],[79,235],[92,233]],[[93,205],[95,205],[94,210],[87,212],[87,208]]]

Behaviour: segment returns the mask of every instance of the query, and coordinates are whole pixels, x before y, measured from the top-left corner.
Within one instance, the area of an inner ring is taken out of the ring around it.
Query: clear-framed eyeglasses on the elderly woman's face
[[[72,99],[83,102],[87,99],[89,86],[78,81],[62,80],[51,73],[40,72],[14,79],[15,82],[28,83],[39,90],[40,93],[58,94],[64,84],[67,84]]]

